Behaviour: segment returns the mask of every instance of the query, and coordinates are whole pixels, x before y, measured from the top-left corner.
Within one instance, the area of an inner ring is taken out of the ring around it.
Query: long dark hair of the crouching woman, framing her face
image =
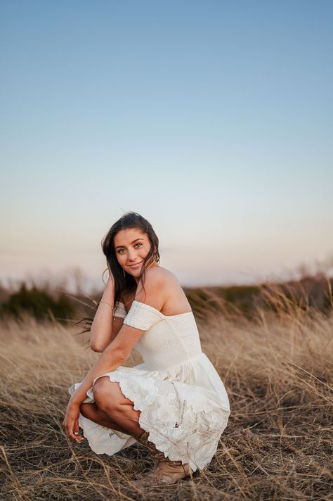
[[[115,252],[115,236],[118,232],[120,232],[120,230],[129,228],[141,229],[143,233],[147,234],[148,239],[151,243],[150,251],[145,257],[145,260],[143,260],[143,266],[141,268],[140,280],[143,285],[143,291],[145,290],[144,281],[146,265],[150,264],[154,260],[157,262],[157,264],[159,263],[159,240],[157,238],[157,234],[155,233],[152,225],[148,220],[146,220],[138,213],[128,212],[123,214],[122,217],[119,218],[119,220],[112,224],[112,227],[109,229],[109,231],[101,241],[101,246],[107,261],[107,269],[104,270],[103,277],[105,272],[109,270],[115,279],[115,308],[117,307],[117,304],[119,303],[119,300],[122,297],[123,293],[126,294],[130,293],[131,291],[135,291],[137,287],[136,279],[133,277],[133,275],[124,272],[122,266],[119,265]],[[96,305],[96,309],[93,315],[96,314],[97,308],[98,305]],[[93,323],[93,318],[85,317],[78,323],[81,324],[81,322],[84,322],[84,330],[79,334],[89,332],[91,329],[91,324]]]

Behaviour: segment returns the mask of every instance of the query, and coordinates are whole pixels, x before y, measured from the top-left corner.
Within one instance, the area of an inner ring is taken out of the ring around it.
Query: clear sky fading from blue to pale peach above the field
[[[79,267],[124,212],[183,285],[333,253],[333,2],[3,1],[0,280]]]

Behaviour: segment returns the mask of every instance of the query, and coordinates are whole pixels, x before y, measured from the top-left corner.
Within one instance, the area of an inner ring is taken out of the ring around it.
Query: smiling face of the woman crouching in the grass
[[[151,247],[148,235],[138,228],[121,229],[114,243],[119,265],[133,277],[140,277],[143,260]]]

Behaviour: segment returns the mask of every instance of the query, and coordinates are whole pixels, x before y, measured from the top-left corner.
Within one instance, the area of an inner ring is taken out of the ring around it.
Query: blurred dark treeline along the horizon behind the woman
[[[260,310],[280,314],[294,308],[315,309],[323,315],[332,312],[333,279],[319,273],[298,281],[282,284],[263,283],[254,286],[221,286],[184,288],[193,312],[204,317],[207,310],[224,315],[244,315],[252,319]],[[0,318],[22,319],[31,315],[37,320],[67,323],[92,318],[103,291],[94,297],[84,294],[52,291],[50,288],[28,287],[22,282],[18,291],[9,293],[0,287]]]

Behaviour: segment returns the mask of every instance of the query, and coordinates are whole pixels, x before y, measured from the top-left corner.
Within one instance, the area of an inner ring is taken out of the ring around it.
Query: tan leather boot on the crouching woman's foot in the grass
[[[136,440],[150,451],[150,454],[157,459],[157,464],[148,475],[135,481],[136,486],[168,485],[191,476],[189,464],[170,461],[169,457],[164,456],[164,452],[157,450],[155,444],[148,440],[148,435],[148,431],[145,431],[140,437],[136,437]]]

